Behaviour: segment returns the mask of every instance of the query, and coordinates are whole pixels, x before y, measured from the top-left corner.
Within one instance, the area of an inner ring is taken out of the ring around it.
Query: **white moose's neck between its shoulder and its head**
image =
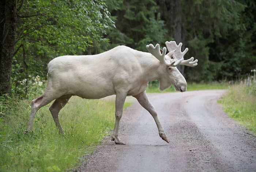
[[[143,56],[139,58],[140,65],[142,67],[143,78],[147,81],[154,81],[159,79],[163,65],[150,53],[143,53]]]

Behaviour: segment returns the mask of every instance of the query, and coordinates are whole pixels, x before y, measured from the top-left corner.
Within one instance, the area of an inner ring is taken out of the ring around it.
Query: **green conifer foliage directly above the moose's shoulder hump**
[[[123,0],[120,7],[110,11],[116,19],[116,28],[107,36],[110,44],[123,44],[140,51],[147,51],[149,43],[163,45],[170,37],[157,9],[154,0]]]

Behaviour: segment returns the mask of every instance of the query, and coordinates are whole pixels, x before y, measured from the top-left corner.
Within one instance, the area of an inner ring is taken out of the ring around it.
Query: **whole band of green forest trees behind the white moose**
[[[256,67],[255,17],[252,0],[2,0],[0,92],[27,92],[57,56],[171,40],[199,60],[178,67],[187,81],[239,80]]]

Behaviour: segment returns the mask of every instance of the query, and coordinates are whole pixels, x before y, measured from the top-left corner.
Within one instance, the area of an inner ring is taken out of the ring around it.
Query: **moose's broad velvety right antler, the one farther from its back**
[[[172,52],[173,50],[177,50],[170,57],[173,57],[173,59],[175,59],[175,60],[182,59],[180,65],[187,65],[187,66],[191,66],[191,67],[194,67],[197,65],[198,60],[196,59],[195,61],[193,61],[194,57],[191,57],[188,60],[183,60],[183,56],[188,52],[188,48],[186,48],[183,52],[181,52],[182,43],[177,45],[175,41],[170,41],[170,42],[166,41],[165,44],[166,44],[166,47],[169,52]],[[169,53],[167,55],[169,55]]]

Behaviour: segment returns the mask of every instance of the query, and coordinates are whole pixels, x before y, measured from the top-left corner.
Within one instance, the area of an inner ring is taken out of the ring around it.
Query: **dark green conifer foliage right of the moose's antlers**
[[[252,39],[256,25],[251,17],[255,5],[252,1],[183,1],[184,43],[190,48],[187,57],[199,59],[197,67],[185,70],[189,80],[238,79],[255,67]]]

